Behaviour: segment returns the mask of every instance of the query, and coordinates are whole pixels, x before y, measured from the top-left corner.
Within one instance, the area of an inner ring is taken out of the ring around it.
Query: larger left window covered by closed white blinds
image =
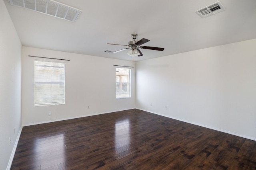
[[[35,61],[34,106],[65,104],[65,63]]]

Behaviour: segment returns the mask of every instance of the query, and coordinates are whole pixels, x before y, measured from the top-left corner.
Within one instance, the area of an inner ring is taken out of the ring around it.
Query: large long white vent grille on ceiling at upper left
[[[10,4],[74,22],[81,10],[52,0],[10,0]]]

